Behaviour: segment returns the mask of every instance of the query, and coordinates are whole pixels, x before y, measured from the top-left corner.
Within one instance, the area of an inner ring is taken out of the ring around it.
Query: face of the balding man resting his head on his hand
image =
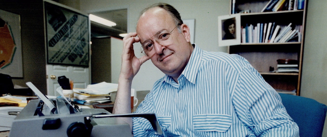
[[[181,25],[185,26],[185,24]],[[154,43],[152,50],[151,61],[159,68],[164,74],[172,77],[179,77],[184,70],[193,47],[189,44],[189,30],[187,33],[182,33],[178,29],[174,29],[176,24],[174,23],[170,14],[159,7],[155,7],[146,11],[139,19],[137,23],[137,35],[141,40],[141,44],[145,41],[151,40]],[[186,26],[188,29],[188,27]],[[160,31],[166,30],[170,32],[169,45],[160,45],[154,40],[155,34]],[[187,35],[187,36],[185,36]]]

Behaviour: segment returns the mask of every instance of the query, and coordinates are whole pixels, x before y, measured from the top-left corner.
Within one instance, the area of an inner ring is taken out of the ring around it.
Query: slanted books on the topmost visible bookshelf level
[[[261,12],[304,9],[304,0],[270,0]]]

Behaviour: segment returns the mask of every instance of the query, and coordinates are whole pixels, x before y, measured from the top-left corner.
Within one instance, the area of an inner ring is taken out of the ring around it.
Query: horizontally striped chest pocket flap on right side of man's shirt
[[[226,132],[232,125],[232,116],[226,114],[198,114],[193,116],[193,128],[197,131]]]

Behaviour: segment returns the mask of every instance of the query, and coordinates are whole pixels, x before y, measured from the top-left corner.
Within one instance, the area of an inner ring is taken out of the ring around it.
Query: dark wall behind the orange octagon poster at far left
[[[32,82],[46,93],[45,42],[42,0],[0,0],[0,9],[20,15],[23,56],[23,78],[13,83],[26,86]]]

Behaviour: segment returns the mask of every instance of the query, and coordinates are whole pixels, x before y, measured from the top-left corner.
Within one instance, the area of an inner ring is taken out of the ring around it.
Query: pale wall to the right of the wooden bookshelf
[[[327,1],[309,0],[305,29],[301,96],[327,104]],[[327,120],[323,137],[327,137]]]

